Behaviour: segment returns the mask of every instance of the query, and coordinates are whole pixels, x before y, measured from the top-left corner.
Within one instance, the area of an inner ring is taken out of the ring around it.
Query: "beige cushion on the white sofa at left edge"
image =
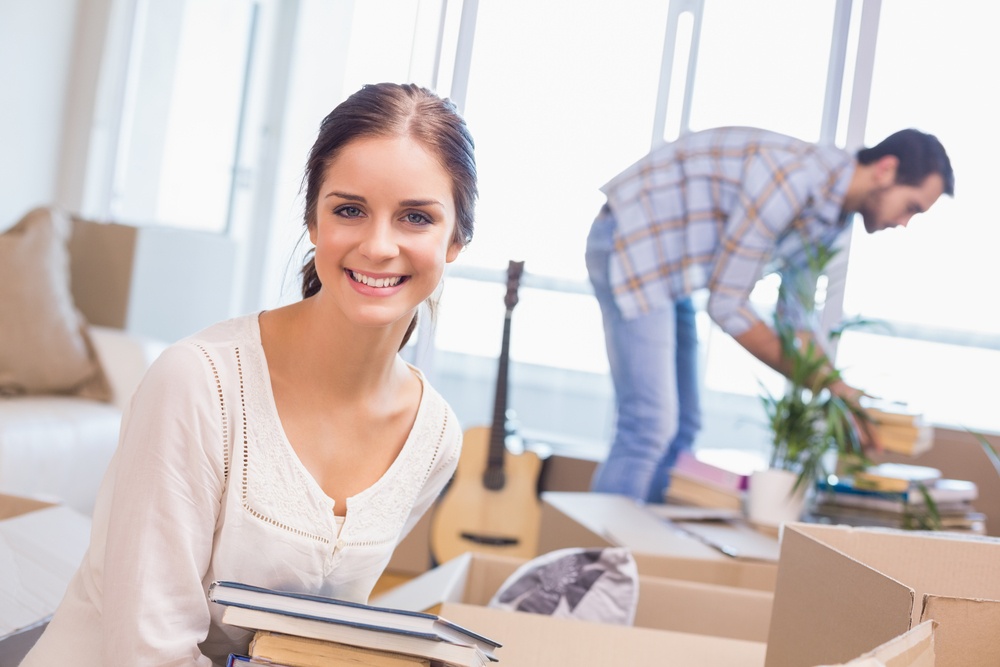
[[[69,215],[37,208],[0,234],[0,395],[111,388],[69,286]]]

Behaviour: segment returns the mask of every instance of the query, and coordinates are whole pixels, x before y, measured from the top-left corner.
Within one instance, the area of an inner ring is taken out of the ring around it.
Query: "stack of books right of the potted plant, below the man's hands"
[[[986,516],[972,506],[978,496],[974,482],[943,478],[936,468],[881,464],[820,482],[809,514],[824,523],[985,535]]]

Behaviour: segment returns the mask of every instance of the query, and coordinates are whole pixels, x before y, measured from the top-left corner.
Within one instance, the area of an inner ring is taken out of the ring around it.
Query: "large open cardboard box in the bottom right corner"
[[[928,619],[937,665],[996,665],[998,563],[997,538],[786,524],[767,667],[844,661]]]

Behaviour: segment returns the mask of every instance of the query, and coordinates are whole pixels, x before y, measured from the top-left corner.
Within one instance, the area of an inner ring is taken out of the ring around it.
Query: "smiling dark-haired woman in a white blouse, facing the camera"
[[[224,664],[251,633],[206,598],[219,579],[365,602],[454,473],[458,420],[398,350],[472,238],[465,123],[428,90],[365,86],[323,121],[306,174],[303,299],[150,368],[26,667]]]

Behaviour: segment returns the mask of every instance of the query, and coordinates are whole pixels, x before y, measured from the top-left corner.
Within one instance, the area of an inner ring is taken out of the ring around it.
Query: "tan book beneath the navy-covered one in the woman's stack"
[[[370,665],[371,667],[430,667],[429,658],[351,646],[339,642],[258,630],[250,642],[250,656],[287,667]],[[437,663],[440,664],[440,663]]]

